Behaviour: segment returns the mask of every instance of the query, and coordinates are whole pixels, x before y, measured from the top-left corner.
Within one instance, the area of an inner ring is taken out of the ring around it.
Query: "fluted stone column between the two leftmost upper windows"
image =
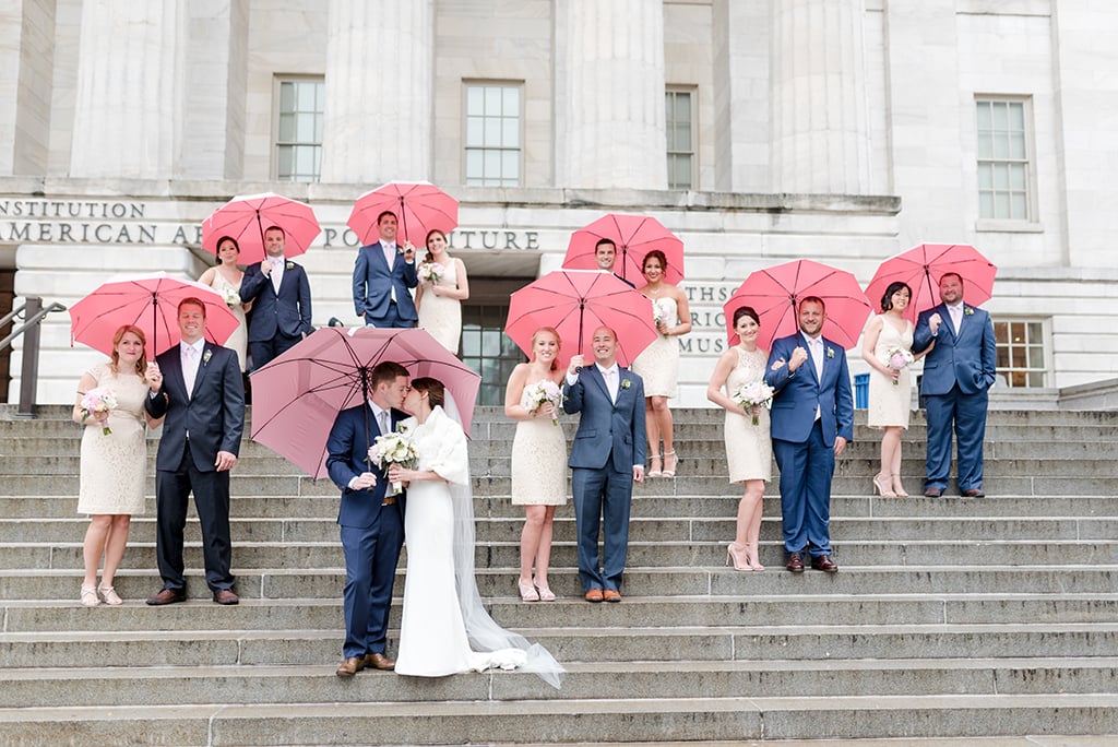
[[[322,181],[429,179],[434,0],[330,0]]]

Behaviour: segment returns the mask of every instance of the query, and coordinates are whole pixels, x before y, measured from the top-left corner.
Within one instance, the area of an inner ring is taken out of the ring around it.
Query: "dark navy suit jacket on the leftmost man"
[[[154,397],[144,399],[144,409],[153,418],[164,415],[155,469],[176,471],[190,433],[190,455],[199,472],[214,472],[218,452],[236,456],[245,429],[245,388],[237,353],[207,342],[198,363],[195,389],[187,396],[179,346],[155,358],[163,372],[163,386]]]

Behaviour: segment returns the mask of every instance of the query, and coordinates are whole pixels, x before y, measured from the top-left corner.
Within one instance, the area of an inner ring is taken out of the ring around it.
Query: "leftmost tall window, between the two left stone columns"
[[[276,108],[276,179],[318,181],[322,173],[322,78],[280,79]]]

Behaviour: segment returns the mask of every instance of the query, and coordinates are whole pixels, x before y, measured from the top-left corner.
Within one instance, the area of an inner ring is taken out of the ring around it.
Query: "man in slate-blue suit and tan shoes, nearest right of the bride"
[[[644,380],[617,365],[617,334],[594,331],[593,366],[571,358],[562,408],[581,413],[570,447],[578,576],[587,602],[620,602],[633,483],[644,481]],[[599,564],[598,529],[601,528]]]

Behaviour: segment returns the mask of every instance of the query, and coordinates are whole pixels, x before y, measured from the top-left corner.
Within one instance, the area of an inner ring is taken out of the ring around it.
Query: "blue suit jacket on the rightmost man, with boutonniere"
[[[931,335],[928,320],[939,314],[939,334]],[[923,378],[920,394],[946,395],[956,384],[959,391],[974,395],[994,386],[997,375],[997,343],[994,340],[994,322],[989,313],[976,306],[963,304],[963,321],[956,332],[951,325],[951,314],[946,304],[932,306],[920,314],[912,332],[912,350],[920,352],[932,342],[923,359]]]

